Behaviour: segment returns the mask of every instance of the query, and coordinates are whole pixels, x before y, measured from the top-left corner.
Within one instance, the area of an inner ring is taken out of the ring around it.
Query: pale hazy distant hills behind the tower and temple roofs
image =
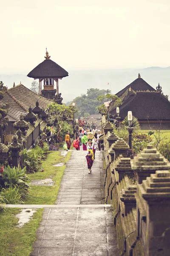
[[[59,91],[62,93],[64,102],[69,102],[75,97],[86,93],[88,88],[109,89],[112,93],[117,93],[130,84],[141,74],[141,78],[156,88],[158,83],[162,87],[163,93],[170,95],[170,67],[147,67],[144,69],[112,69],[112,70],[68,70],[69,76],[59,80]],[[26,87],[31,87],[33,79],[25,74],[4,74],[0,75],[8,88],[13,83],[20,81]],[[109,83],[109,84],[108,84]]]

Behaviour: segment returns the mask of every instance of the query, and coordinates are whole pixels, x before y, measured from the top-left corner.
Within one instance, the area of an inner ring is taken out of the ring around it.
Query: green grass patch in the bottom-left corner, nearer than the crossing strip
[[[16,227],[18,208],[7,208],[0,213],[0,255],[29,256],[36,239],[36,231],[42,219],[43,209],[38,209],[33,218],[23,227]]]

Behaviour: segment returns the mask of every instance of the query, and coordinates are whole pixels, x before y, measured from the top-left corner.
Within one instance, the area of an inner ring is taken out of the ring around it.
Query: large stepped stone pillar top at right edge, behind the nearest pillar
[[[170,163],[165,159],[153,145],[147,145],[133,160],[130,161],[132,169],[137,173],[137,182],[142,183],[150,174],[156,170],[170,169]]]

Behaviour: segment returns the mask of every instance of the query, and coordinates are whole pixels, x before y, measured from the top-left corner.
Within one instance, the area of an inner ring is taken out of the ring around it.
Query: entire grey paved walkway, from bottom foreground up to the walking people
[[[85,151],[73,151],[55,205],[44,209],[31,256],[117,256],[116,228],[104,204],[103,153],[88,174]]]

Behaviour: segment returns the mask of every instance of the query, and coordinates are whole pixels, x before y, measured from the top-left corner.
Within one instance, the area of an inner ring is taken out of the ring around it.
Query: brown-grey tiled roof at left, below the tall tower
[[[21,109],[24,111],[28,111],[28,108],[30,107],[30,105],[31,105],[31,108],[34,108],[37,100],[39,102],[39,106],[45,109],[47,108],[47,105],[51,102],[51,100],[45,99],[44,97],[38,95],[37,93],[34,93],[33,91],[25,87],[23,84],[18,84],[17,86],[8,89],[7,92],[10,93],[10,95],[12,95],[14,99],[16,99],[17,102],[23,108],[21,109],[21,108],[12,106],[10,102],[11,99],[9,99],[8,102],[6,101],[6,103],[8,103],[13,108]]]

